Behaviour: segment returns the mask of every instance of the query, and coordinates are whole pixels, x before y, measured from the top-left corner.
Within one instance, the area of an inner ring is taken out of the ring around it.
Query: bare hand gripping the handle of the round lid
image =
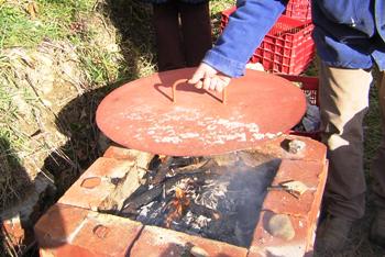
[[[205,63],[201,63],[194,72],[193,78],[188,80],[188,83],[193,83],[196,88],[221,92],[227,86],[229,86],[230,81],[231,77],[218,71]]]

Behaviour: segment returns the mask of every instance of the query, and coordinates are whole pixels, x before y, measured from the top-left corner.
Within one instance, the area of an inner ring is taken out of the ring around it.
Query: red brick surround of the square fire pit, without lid
[[[304,142],[305,148],[290,150],[287,143],[294,139]],[[35,225],[40,254],[43,257],[311,255],[327,178],[326,147],[307,137],[282,135],[253,150],[280,160],[271,186],[295,180],[306,185],[307,190],[297,197],[285,190],[268,190],[248,246],[101,212],[108,201],[122,204],[123,194],[135,188],[133,182],[117,185],[114,180],[136,177],[138,170],[147,169],[148,159],[153,158],[148,153],[110,146]],[[121,187],[124,190],[118,190]]]

